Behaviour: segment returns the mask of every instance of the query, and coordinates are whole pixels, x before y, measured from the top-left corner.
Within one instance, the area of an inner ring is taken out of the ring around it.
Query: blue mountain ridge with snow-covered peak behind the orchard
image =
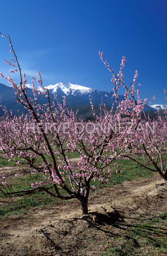
[[[31,89],[32,85],[27,84],[27,94],[29,97],[33,98],[33,92]],[[38,90],[41,90],[41,87],[36,86]],[[101,99],[106,106],[112,107],[114,104],[114,108],[116,108],[117,104],[115,102],[115,97],[113,96],[113,92],[105,92],[96,89],[92,89],[90,87],[81,86],[78,84],[71,84],[71,83],[57,83],[55,85],[48,85],[45,86],[50,92],[50,100],[54,99],[54,94],[57,94],[57,98],[59,102],[63,103],[62,96],[66,96],[66,104],[68,108],[74,108],[81,105],[91,106],[90,98],[94,106],[99,106],[101,104]],[[19,109],[19,113],[23,112],[26,113],[26,109],[21,104],[17,104],[16,95],[14,93],[13,87],[9,85],[4,85],[0,83],[0,97],[2,97],[2,104],[6,106],[6,109],[10,111],[12,109],[13,113],[17,113]],[[120,101],[124,99],[124,95],[119,95]],[[47,98],[43,95],[38,95],[38,103],[39,104],[46,104]],[[84,107],[83,107],[84,108]],[[146,105],[144,111],[154,110],[154,108]],[[82,112],[82,111],[81,111]],[[4,114],[2,108],[0,108],[0,114]]]

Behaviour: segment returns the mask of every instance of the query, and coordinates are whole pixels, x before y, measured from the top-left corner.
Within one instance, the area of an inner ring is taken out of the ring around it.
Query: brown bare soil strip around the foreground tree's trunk
[[[0,203],[7,202],[8,198],[0,199]],[[0,256],[113,255],[109,248],[129,241],[129,229],[166,213],[166,206],[167,183],[154,175],[92,192],[87,215],[81,215],[80,202],[75,199],[32,208],[23,217],[15,215],[1,221]],[[166,234],[167,227],[163,226],[162,235]],[[133,255],[167,255],[156,248],[147,254],[148,245],[140,247],[135,239],[131,243],[136,246]]]

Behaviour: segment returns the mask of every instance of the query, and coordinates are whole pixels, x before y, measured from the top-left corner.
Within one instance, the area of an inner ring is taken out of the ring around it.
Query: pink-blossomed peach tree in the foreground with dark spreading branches
[[[12,67],[10,73],[19,73],[20,83],[17,84],[10,76],[6,77],[2,73],[0,76],[12,85],[18,104],[22,104],[27,113],[13,116],[12,111],[9,113],[1,103],[4,110],[0,123],[1,156],[8,161],[15,161],[17,165],[26,165],[29,172],[36,171],[41,176],[26,189],[17,190],[8,183],[8,177],[3,171],[0,175],[0,191],[10,195],[43,190],[62,200],[75,198],[81,203],[82,214],[87,214],[90,190],[109,182],[113,166],[119,168],[117,157],[126,154],[129,145],[137,143],[137,134],[141,137],[138,127],[147,99],[140,99],[139,90],[135,89],[137,71],[128,88],[123,78],[125,57],[119,73],[115,75],[99,52],[100,58],[113,75],[117,110],[113,112],[112,108],[107,111],[105,104],[101,103],[100,114],[97,115],[90,99],[94,121],[85,122],[82,118],[77,120],[76,113],[66,107],[65,96],[63,104],[60,104],[56,95],[53,101],[50,99],[40,71],[38,78],[31,77],[33,97],[28,95],[26,75],[22,74],[11,39],[2,36],[9,39],[13,55],[11,61],[5,60],[5,63]],[[125,89],[122,102],[118,94],[121,86]],[[39,97],[47,98],[47,104],[39,103]],[[77,164],[70,158],[71,152],[77,153]]]

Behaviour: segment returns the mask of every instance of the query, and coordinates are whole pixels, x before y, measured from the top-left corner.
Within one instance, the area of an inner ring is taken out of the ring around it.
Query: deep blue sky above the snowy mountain
[[[166,13],[166,0],[1,0],[0,32],[10,35],[28,82],[41,70],[44,85],[71,82],[112,91],[101,51],[116,73],[126,56],[125,83],[133,81],[137,69],[141,97],[156,95],[154,104],[167,105]],[[10,70],[3,62],[12,57],[9,49],[9,41],[0,37],[4,75]],[[17,73],[13,78],[19,82]]]

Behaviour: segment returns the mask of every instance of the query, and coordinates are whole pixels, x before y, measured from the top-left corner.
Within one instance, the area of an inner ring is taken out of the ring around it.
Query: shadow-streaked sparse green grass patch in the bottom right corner
[[[124,235],[112,238],[108,252],[100,256],[166,255],[166,232],[167,214],[164,213],[142,224],[136,223]]]

